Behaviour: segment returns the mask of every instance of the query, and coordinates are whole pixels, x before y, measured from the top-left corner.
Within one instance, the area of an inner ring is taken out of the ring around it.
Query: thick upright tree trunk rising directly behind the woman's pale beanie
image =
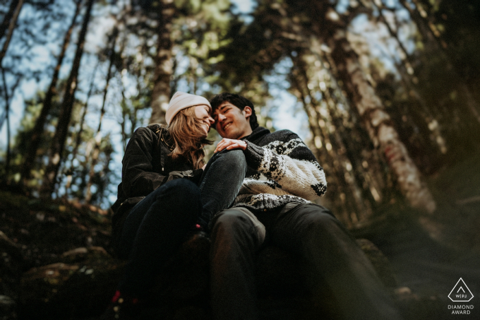
[[[165,123],[165,111],[170,101],[170,80],[173,73],[171,61],[171,21],[175,14],[172,0],[160,1],[158,23],[158,48],[155,57],[154,88],[152,90],[152,116],[150,123]]]

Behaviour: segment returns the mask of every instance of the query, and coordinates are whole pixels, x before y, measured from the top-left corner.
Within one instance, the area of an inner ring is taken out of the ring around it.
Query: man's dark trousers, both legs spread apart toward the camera
[[[288,205],[287,205],[288,206]],[[374,268],[355,239],[330,211],[315,204],[256,212],[243,208],[217,214],[211,233],[213,315],[219,319],[259,319],[254,256],[265,241],[302,259],[314,297],[328,286],[341,319],[400,319]]]

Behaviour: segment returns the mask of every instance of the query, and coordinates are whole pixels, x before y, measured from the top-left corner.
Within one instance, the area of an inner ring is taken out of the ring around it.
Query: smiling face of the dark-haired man
[[[230,102],[223,102],[213,112],[215,128],[222,138],[239,139],[252,133],[250,115],[252,109],[245,107],[240,110]]]

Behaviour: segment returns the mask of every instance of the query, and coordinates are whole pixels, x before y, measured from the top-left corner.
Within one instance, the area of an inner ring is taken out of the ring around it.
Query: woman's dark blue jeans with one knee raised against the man
[[[208,223],[228,208],[245,177],[241,150],[222,151],[208,162],[200,187],[180,178],[158,187],[132,208],[119,243],[119,255],[128,258],[119,290],[142,297],[154,276],[178,250],[195,223]]]

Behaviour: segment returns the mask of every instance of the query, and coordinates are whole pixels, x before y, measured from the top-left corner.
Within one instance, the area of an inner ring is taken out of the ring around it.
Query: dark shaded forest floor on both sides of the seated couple
[[[434,214],[396,204],[352,233],[372,241],[387,256],[398,282],[396,297],[408,301],[407,319],[458,317],[448,309],[454,304],[448,294],[459,278],[474,295],[468,304],[475,306],[470,317],[461,317],[480,319],[480,155],[432,177],[429,186],[437,201]],[[93,275],[88,292],[99,291],[95,299],[108,301],[122,267],[110,255],[108,211],[75,202],[40,201],[5,189],[0,190],[0,252],[0,320],[33,319],[16,304],[48,315],[45,301],[71,295],[60,292],[60,284],[69,281],[69,288],[79,288]],[[91,309],[98,308],[98,313],[104,306]],[[88,318],[88,312],[82,316],[82,310],[69,308],[60,311],[76,313],[62,314],[64,319]]]

